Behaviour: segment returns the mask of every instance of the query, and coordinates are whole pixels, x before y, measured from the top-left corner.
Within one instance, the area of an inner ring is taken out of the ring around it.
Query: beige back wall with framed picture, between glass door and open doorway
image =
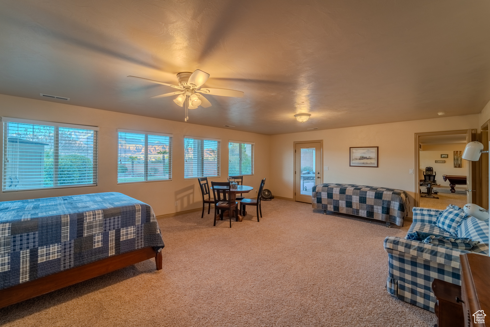
[[[325,183],[352,183],[402,189],[415,195],[415,133],[477,128],[476,115],[272,135],[271,191],[293,198],[293,142],[323,140]],[[349,167],[349,147],[379,147],[379,168]]]

